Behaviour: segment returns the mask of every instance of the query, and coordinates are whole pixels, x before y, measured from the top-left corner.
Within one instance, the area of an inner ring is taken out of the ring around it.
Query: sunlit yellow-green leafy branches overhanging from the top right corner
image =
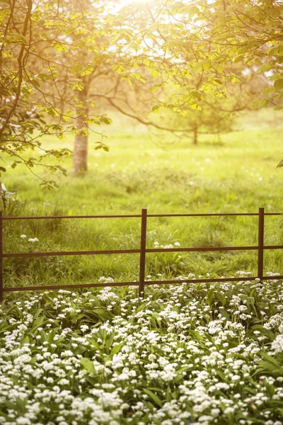
[[[170,1],[166,16],[179,25],[173,27],[174,40],[165,45],[175,60],[194,59],[187,72],[206,74],[202,92],[209,84],[222,85],[233,74],[224,73],[229,62],[265,74],[271,84],[262,92],[258,107],[269,104],[282,109],[283,34],[282,2],[276,0]],[[187,34],[187,37],[185,36]],[[173,47],[173,48],[172,48]],[[213,91],[213,89],[212,89]],[[196,99],[202,100],[202,96]]]

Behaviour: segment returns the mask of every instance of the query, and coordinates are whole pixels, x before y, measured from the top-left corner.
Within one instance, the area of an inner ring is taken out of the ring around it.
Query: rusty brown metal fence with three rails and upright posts
[[[283,279],[283,275],[264,276],[263,275],[263,253],[265,249],[283,249],[283,245],[265,245],[264,229],[265,216],[282,215],[281,212],[265,212],[264,208],[259,208],[258,212],[240,213],[215,213],[215,214],[148,214],[143,208],[141,215],[46,215],[27,217],[4,217],[0,211],[0,301],[3,300],[4,293],[11,293],[26,290],[53,290],[71,288],[96,288],[104,286],[138,286],[139,297],[144,297],[144,286],[165,285],[168,283],[209,283],[209,282],[236,282],[241,280],[271,280],[274,278]],[[149,217],[231,217],[231,216],[258,216],[258,245],[256,246],[216,246],[209,248],[154,248],[146,249],[146,225]],[[48,219],[74,219],[74,218],[141,218],[141,243],[139,249],[115,249],[105,251],[55,251],[55,252],[28,252],[28,253],[7,253],[3,252],[3,222],[5,220],[48,220]],[[182,280],[145,280],[146,254],[158,252],[204,252],[204,251],[258,251],[258,276],[248,276],[246,278],[210,278],[210,279],[182,279]],[[138,282],[111,282],[111,283],[81,283],[71,285],[46,285],[46,286],[24,286],[19,288],[4,288],[3,286],[3,259],[15,257],[40,257],[40,256],[69,256],[69,255],[100,255],[100,254],[139,254],[139,281]]]

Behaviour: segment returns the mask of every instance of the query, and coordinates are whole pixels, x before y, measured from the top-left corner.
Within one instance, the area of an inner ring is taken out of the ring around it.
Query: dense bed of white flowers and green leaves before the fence
[[[283,425],[276,278],[14,299],[0,309],[2,425]]]

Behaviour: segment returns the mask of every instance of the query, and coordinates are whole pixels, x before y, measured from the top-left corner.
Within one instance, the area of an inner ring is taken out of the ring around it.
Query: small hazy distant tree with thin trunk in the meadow
[[[205,96],[200,92],[202,99],[199,104],[190,107],[181,101],[178,112],[173,112],[176,109],[173,103],[166,106],[163,99],[163,103],[158,106],[158,111],[161,110],[159,120],[170,122],[175,130],[183,129],[185,136],[190,133],[194,145],[197,145],[200,134],[220,135],[235,129],[237,113],[250,109],[250,103],[266,88],[267,81],[242,64],[226,64],[223,71],[226,74],[233,72],[233,80],[236,81],[226,81],[226,91],[219,85],[216,92],[208,91]],[[187,85],[195,86],[199,90],[204,79],[203,74],[192,74],[192,77],[187,79]],[[164,96],[166,95],[168,96],[168,90],[165,91]],[[164,111],[164,108],[167,109]]]

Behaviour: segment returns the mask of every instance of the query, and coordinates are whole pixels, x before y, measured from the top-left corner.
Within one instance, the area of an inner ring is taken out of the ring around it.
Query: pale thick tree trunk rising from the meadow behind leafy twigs
[[[86,128],[86,123],[84,121],[88,115],[88,87],[81,91],[78,91],[79,101],[83,106],[79,108],[78,116],[76,118],[76,129],[81,130]],[[88,169],[88,135],[78,134],[75,136],[74,140],[74,157],[73,157],[73,175],[83,173]]]

